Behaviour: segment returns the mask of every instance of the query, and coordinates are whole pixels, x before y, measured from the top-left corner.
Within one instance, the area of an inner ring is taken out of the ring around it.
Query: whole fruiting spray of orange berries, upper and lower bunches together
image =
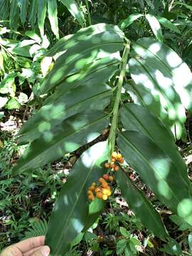
[[[124,163],[124,159],[122,154],[117,152],[113,152],[111,156],[110,163],[105,163],[105,168],[112,169],[113,171],[119,171],[119,166],[117,165]],[[108,172],[109,173],[109,172]],[[104,174],[102,178],[99,178],[98,185],[94,182],[88,189],[88,198],[90,201],[93,201],[96,198],[107,200],[109,196],[112,194],[111,187],[108,182],[112,182],[114,180],[114,176],[109,174]]]

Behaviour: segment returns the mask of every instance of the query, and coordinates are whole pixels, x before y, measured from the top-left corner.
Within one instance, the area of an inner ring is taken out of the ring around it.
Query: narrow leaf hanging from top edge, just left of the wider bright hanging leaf
[[[38,28],[41,33],[41,37],[44,36],[44,23],[46,19],[47,4],[50,0],[38,0]]]

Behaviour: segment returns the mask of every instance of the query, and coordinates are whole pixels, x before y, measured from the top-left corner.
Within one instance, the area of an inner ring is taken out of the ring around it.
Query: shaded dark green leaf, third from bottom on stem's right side
[[[187,166],[178,153],[171,132],[164,127],[160,120],[146,108],[134,103],[124,104],[124,107],[120,111],[120,117],[125,129],[142,132],[168,154],[181,173],[181,176],[183,176],[183,179],[188,183],[189,188],[191,188]]]

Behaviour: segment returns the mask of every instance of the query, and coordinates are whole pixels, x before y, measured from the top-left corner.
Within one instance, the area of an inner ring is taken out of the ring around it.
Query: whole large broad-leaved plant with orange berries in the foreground
[[[90,24],[61,38],[45,53],[55,63],[36,90],[43,106],[18,133],[18,144],[29,146],[13,175],[60,159],[96,139],[106,127],[110,129],[105,142],[91,146],[75,162],[60,191],[46,233],[51,255],[68,252],[70,242],[100,216],[107,197],[112,196],[113,183],[110,188],[107,181],[98,183],[105,174],[114,176],[142,224],[169,242],[171,253],[181,255],[159,212],[124,172],[127,165],[161,203],[183,223],[192,225],[191,182],[175,145],[176,139],[186,138],[186,110],[191,111],[192,105],[191,70],[164,42],[159,22],[165,20],[158,21],[151,14],[135,15],[119,26]],[[137,18],[149,22],[155,38],[151,34],[134,41],[124,33]],[[115,158],[118,154],[124,161]],[[96,189],[102,196],[97,196]],[[139,243],[127,234],[124,250],[136,254],[134,246]]]

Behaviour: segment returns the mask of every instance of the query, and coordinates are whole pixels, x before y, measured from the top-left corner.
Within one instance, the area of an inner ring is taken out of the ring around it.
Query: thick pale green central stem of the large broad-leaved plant
[[[115,139],[117,134],[117,122],[118,122],[118,113],[119,113],[119,102],[121,100],[121,93],[122,93],[122,85],[125,77],[125,69],[127,65],[127,58],[129,55],[130,49],[130,42],[127,41],[126,46],[124,47],[124,53],[122,55],[122,63],[121,63],[121,72],[119,75],[119,79],[117,82],[117,93],[114,100],[114,106],[112,110],[112,124],[110,128],[110,135],[109,135],[109,144],[110,144],[110,153],[114,151],[115,146]]]

